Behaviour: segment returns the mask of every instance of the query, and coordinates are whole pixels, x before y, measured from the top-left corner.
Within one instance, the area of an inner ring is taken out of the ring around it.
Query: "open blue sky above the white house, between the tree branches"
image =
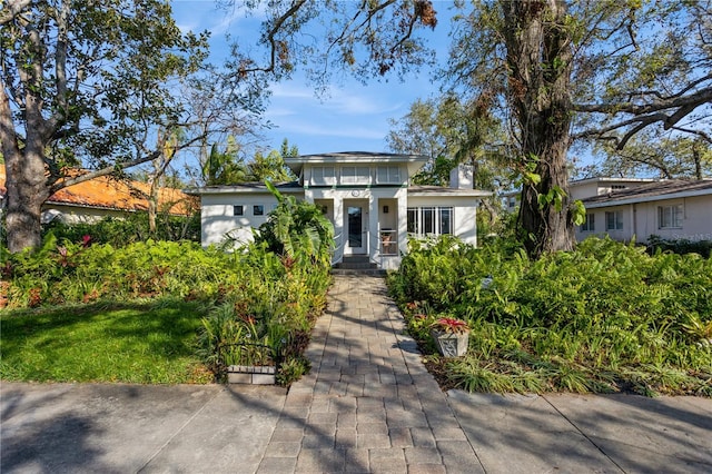
[[[435,1],[438,26],[428,31],[431,46],[438,51],[438,61],[446,60],[449,20],[448,3]],[[218,10],[212,0],[178,0],[172,2],[174,16],[182,30],[211,31],[211,57],[226,53],[226,33],[240,45],[257,50],[258,14]],[[428,70],[409,75],[402,82],[370,79],[366,86],[355,79],[339,79],[326,97],[318,98],[314,87],[297,71],[288,81],[273,83],[271,98],[265,118],[275,125],[263,132],[266,148],[278,149],[283,139],[296,145],[303,155],[328,151],[386,151],[388,119],[408,112],[416,99],[436,96],[438,86],[431,82]]]

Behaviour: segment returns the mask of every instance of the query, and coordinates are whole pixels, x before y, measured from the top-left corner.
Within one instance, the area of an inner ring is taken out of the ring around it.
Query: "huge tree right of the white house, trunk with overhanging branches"
[[[237,73],[288,75],[309,63],[323,83],[334,69],[365,80],[432,59],[421,32],[437,26],[427,0],[246,4],[265,7],[261,42],[268,56],[261,63],[244,61]],[[533,256],[574,246],[582,208],[568,200],[567,151],[575,138],[624,147],[647,127],[689,129],[694,124],[683,124],[685,118],[710,115],[709,1],[455,4],[462,14],[445,76],[453,89],[475,98],[471,103],[492,103],[510,119],[517,145],[511,164],[524,178],[520,223]],[[671,42],[682,31],[692,39]],[[655,60],[665,46],[678,49]]]

